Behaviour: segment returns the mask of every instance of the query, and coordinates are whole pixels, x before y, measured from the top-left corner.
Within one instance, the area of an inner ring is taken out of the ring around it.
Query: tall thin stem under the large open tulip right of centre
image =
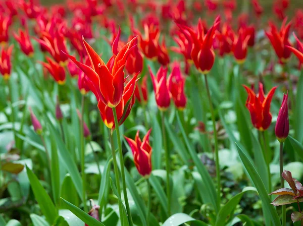
[[[212,97],[211,97],[211,93],[210,93],[207,75],[204,75],[204,78],[205,78],[205,86],[206,86],[206,90],[207,90],[207,96],[209,99],[210,110],[211,110],[212,121],[213,121],[213,129],[214,129],[215,161],[216,161],[216,174],[217,174],[217,203],[218,203],[218,207],[220,208],[220,205],[221,205],[221,196],[220,196],[221,178],[220,178],[220,165],[219,165],[218,135],[217,135],[217,129],[216,129],[215,112],[214,112],[214,107],[213,107],[213,103],[212,103]]]

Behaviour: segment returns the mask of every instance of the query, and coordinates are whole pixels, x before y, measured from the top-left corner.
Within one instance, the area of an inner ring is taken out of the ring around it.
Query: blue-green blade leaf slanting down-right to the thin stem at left
[[[52,136],[55,136],[57,148],[59,151],[59,156],[62,158],[63,162],[65,163],[65,167],[67,168],[68,172],[71,175],[71,178],[73,180],[73,183],[75,185],[75,188],[79,194],[80,197],[82,197],[82,182],[81,177],[77,168],[77,165],[73,158],[71,158],[69,151],[67,150],[65,144],[63,143],[60,134],[56,131],[53,124],[51,123],[51,120],[46,117],[48,120],[48,127],[51,131]]]

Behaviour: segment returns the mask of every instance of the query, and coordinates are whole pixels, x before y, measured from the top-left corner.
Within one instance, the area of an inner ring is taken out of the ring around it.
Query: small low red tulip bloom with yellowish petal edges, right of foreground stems
[[[135,140],[125,137],[134,156],[134,163],[137,170],[144,178],[149,178],[151,174],[151,153],[153,152],[153,149],[149,144],[150,132],[151,129],[147,131],[142,141],[139,137],[139,131],[135,136]]]

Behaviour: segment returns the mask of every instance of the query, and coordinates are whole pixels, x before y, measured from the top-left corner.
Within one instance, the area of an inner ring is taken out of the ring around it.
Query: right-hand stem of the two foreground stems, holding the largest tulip
[[[120,130],[119,130],[119,122],[118,122],[118,117],[117,117],[117,111],[116,111],[115,107],[113,107],[113,115],[114,115],[114,119],[115,119],[115,128],[116,128],[117,141],[118,141],[118,149],[119,149],[119,156],[120,156],[120,167],[121,167],[121,176],[122,176],[122,186],[123,186],[124,201],[125,201],[126,211],[127,211],[127,215],[128,215],[129,226],[133,226],[134,223],[132,221],[131,212],[130,212],[129,203],[128,203],[128,198],[127,198],[127,190],[126,190],[126,181],[125,181],[125,173],[124,173],[124,161],[123,161],[121,137],[120,137]]]

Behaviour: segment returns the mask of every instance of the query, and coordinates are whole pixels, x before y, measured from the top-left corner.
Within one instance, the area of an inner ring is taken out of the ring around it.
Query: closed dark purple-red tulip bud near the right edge
[[[288,93],[283,96],[281,108],[279,110],[275,134],[280,143],[283,143],[289,133],[289,121],[288,121]]]

